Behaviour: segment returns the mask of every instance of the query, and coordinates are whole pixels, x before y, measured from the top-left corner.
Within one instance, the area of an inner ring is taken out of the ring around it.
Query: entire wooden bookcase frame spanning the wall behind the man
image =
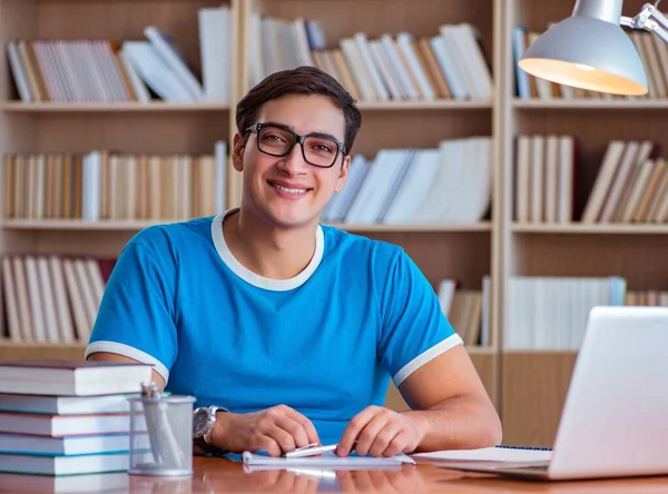
[[[407,31],[434,36],[444,23],[470,22],[493,75],[488,100],[361,100],[363,126],[353,152],[373,156],[383,148],[435,147],[441,139],[485,135],[492,139],[491,215],[464,225],[335,224],[403,246],[436,286],[456,278],[462,288],[481,289],[491,277],[490,340],[469,347],[504,426],[507,444],[550,445],[561,412],[574,350],[504,349],[509,284],[513,276],[610,276],[629,289],[668,290],[668,226],[582,224],[582,208],[613,138],[651,139],[668,145],[668,100],[531,99],[515,96],[512,29],[544,30],[570,14],[572,0],[232,0],[233,97],[229,102],[56,103],[18,100],[7,55],[0,63],[0,151],[210,154],[216,140],[234,136],[235,102],[250,85],[250,16],[316,19],[328,46],[364,32],[367,38]],[[144,39],[158,26],[200,71],[197,10],[208,0],[0,0],[0,41],[12,39]],[[641,2],[625,2],[633,14]],[[573,220],[529,224],[514,220],[514,138],[520,134],[569,134],[580,138],[573,189]],[[238,202],[238,175],[229,171],[226,206]],[[160,220],[159,223],[165,223]],[[35,253],[112,257],[154,220],[0,219],[2,255]],[[0,343],[0,358],[77,358],[85,345]],[[405,406],[395,389],[389,404]]]

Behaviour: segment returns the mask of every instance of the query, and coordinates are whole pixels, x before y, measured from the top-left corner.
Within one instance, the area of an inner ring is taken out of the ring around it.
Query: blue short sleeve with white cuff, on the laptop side
[[[422,365],[463,343],[443,315],[429,280],[403,249],[382,294],[379,357],[396,386]]]

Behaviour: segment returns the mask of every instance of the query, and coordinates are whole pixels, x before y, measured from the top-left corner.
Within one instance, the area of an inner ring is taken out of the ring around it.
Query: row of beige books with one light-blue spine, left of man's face
[[[195,156],[8,154],[2,167],[4,218],[179,220],[226,205],[225,141]]]

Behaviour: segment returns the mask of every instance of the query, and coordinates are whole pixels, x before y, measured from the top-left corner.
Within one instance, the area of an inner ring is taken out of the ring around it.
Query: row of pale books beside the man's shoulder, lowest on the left
[[[13,343],[88,343],[114,265],[91,257],[2,257],[0,336]]]

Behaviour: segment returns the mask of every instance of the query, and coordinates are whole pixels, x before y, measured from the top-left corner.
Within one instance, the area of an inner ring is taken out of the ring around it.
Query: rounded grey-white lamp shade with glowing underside
[[[647,75],[633,42],[612,22],[572,16],[543,32],[519,66],[553,82],[616,95],[647,93]]]

